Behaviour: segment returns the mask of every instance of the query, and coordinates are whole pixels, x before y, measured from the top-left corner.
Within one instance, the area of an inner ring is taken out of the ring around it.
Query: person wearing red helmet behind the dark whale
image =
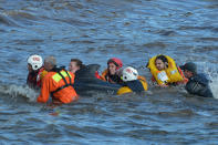
[[[118,70],[123,66],[123,62],[117,58],[112,58],[107,61],[107,69],[102,73],[101,80],[110,83],[122,84],[123,81],[118,75]]]

